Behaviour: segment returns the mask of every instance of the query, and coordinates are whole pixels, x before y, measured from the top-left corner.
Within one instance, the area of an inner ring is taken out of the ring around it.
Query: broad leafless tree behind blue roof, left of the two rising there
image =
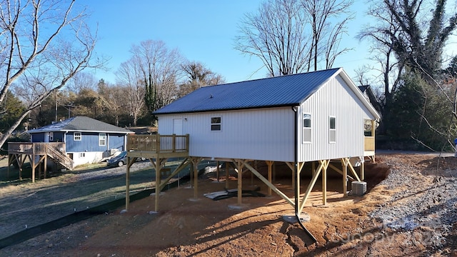
[[[297,0],[270,0],[258,14],[246,14],[239,25],[235,49],[257,56],[269,76],[296,74],[307,69],[311,36]]]

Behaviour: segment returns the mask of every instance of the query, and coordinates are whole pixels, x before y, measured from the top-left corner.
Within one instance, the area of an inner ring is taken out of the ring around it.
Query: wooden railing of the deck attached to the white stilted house
[[[189,151],[189,134],[173,135],[128,135],[127,151],[154,153],[179,153]]]

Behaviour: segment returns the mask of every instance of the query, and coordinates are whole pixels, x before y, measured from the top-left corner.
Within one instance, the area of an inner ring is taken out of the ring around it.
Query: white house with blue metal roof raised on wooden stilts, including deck
[[[296,214],[319,176],[326,203],[329,167],[346,178],[363,180],[363,160],[374,156],[374,123],[380,118],[343,69],[278,76],[232,84],[206,86],[154,112],[159,133],[128,136],[126,208],[129,208],[129,167],[136,158],[150,158],[156,169],[156,211],[159,191],[166,181],[189,163],[194,165],[194,197],[198,183],[196,164],[202,160],[233,163],[238,172],[238,204],[241,204],[243,169],[251,171],[291,204]],[[368,125],[368,126],[367,126]],[[369,128],[366,131],[366,129]],[[161,181],[167,158],[184,157],[181,165]],[[264,161],[268,176],[253,163]],[[271,183],[273,163],[290,168],[295,197],[289,198]],[[333,163],[341,163],[341,168]],[[360,173],[353,163],[360,163]],[[311,182],[300,192],[301,172],[312,163]]]

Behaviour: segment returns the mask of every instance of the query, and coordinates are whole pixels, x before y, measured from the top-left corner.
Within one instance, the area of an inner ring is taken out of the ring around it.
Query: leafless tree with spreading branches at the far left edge
[[[0,5],[0,104],[15,81],[33,99],[0,138],[6,141],[29,112],[89,66],[95,38],[75,1],[2,0]],[[64,40],[65,39],[65,40]]]

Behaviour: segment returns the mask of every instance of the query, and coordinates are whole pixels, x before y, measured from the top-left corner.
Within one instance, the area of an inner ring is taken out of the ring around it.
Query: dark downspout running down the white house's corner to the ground
[[[313,243],[317,243],[317,239],[311,234],[311,232],[308,231],[308,229],[303,226],[303,223],[301,223],[300,216],[298,215],[298,179],[300,179],[300,176],[298,175],[298,107],[299,106],[292,106],[292,111],[295,113],[295,122],[293,124],[293,155],[294,155],[294,168],[295,168],[295,185],[293,187],[295,188],[295,218],[298,221],[298,224],[300,224],[301,228],[303,228],[303,231],[313,240]]]

